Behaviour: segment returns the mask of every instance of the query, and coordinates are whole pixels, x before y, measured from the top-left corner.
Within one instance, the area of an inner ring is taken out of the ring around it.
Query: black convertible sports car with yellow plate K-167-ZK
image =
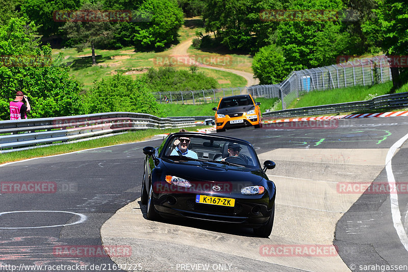
[[[147,219],[184,217],[230,222],[271,234],[275,184],[268,180],[253,146],[233,137],[173,133],[154,148],[146,146],[141,202]]]

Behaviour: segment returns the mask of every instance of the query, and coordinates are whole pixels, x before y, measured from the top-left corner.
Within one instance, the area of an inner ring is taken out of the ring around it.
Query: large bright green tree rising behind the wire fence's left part
[[[341,0],[293,0],[288,10],[341,11]],[[282,21],[271,42],[281,46],[293,70],[330,65],[347,49],[349,34],[336,18],[313,17],[310,20]]]

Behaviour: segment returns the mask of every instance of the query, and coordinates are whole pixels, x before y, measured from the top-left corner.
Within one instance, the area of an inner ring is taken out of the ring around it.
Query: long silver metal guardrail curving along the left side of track
[[[194,122],[132,112],[6,120],[0,121],[0,153],[131,130],[193,127]]]

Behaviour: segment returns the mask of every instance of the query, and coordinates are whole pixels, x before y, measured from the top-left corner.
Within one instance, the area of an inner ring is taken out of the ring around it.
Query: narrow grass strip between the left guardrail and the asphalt
[[[188,131],[196,131],[197,129],[208,128],[208,127],[191,127],[185,128]],[[166,129],[166,133],[170,132],[178,132],[179,129]],[[61,145],[53,145],[47,147],[40,147],[37,149],[31,150],[23,150],[23,151],[16,151],[10,153],[4,153],[0,156],[0,164],[13,162],[13,161],[20,161],[24,159],[30,158],[37,158],[37,157],[45,157],[45,156],[52,156],[58,154],[64,154],[74,151],[81,151],[85,149],[92,149],[95,147],[102,147],[102,146],[109,146],[114,144],[121,144],[121,143],[131,143],[137,142],[141,140],[145,140],[154,136],[156,134],[163,133],[163,130],[158,129],[149,129],[149,130],[138,130],[132,131],[120,135],[115,135],[111,137],[99,138],[89,141],[77,142],[77,143],[69,143],[69,144],[61,144]]]

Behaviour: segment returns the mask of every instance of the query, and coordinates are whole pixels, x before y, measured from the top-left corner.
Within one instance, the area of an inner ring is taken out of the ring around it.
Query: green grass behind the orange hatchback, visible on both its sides
[[[256,98],[256,102],[261,103],[261,112],[265,112],[266,109],[270,109],[277,98]],[[217,103],[207,103],[207,104],[196,104],[186,105],[186,104],[160,104],[165,116],[212,116],[215,111],[212,108],[218,106]]]

